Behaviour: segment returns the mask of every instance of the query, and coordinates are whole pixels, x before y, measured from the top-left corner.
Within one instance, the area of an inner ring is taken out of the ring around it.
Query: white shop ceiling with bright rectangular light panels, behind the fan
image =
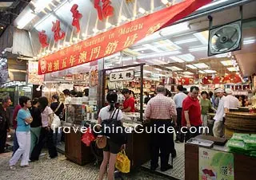
[[[120,61],[118,54],[105,58],[106,68],[146,63],[146,65],[153,65],[153,67],[146,67],[146,72],[150,70],[150,72],[158,75],[165,75],[174,71],[181,74],[191,72],[191,75],[192,73],[212,75],[214,73],[221,76],[226,73],[242,72],[242,76],[250,76],[256,72],[256,61],[254,61],[256,58],[254,53],[256,52],[255,9],[256,2],[250,2],[243,6],[242,50],[208,57],[209,31],[198,30],[209,28],[209,21],[205,17],[172,25],[154,33],[151,37],[146,37],[129,49],[123,50],[122,61]],[[234,7],[212,14],[212,16],[214,25],[226,24],[238,20],[239,9]],[[200,63],[199,66],[198,63]],[[230,65],[225,66],[222,63],[229,63]],[[194,67],[194,65],[198,67]],[[241,71],[234,66],[239,66]]]

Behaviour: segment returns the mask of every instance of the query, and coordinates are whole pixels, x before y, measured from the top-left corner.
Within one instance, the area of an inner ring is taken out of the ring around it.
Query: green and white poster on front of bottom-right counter
[[[199,180],[234,180],[234,155],[199,147]]]

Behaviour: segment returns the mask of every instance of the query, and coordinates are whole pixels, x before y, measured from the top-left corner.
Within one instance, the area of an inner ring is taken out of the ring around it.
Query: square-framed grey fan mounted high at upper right
[[[241,49],[241,24],[242,22],[239,20],[210,29],[208,56]]]

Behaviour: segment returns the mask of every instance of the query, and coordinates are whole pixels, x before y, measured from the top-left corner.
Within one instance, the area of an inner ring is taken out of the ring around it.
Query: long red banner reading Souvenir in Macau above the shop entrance
[[[186,0],[105,33],[99,33],[95,37],[42,57],[38,64],[38,74],[56,72],[110,56],[134,45],[158,29],[186,17],[209,2],[211,0]]]

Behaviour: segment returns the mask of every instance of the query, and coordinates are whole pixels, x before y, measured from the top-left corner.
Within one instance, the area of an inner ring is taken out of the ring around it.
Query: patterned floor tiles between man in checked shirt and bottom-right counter
[[[159,174],[165,174],[166,176],[183,180],[185,179],[185,143],[175,143],[175,149],[177,151],[177,157],[174,158],[174,169],[167,170],[166,172],[161,172],[160,167],[158,167],[156,171]],[[142,166],[145,167],[146,169],[150,169],[150,162],[147,162]]]

